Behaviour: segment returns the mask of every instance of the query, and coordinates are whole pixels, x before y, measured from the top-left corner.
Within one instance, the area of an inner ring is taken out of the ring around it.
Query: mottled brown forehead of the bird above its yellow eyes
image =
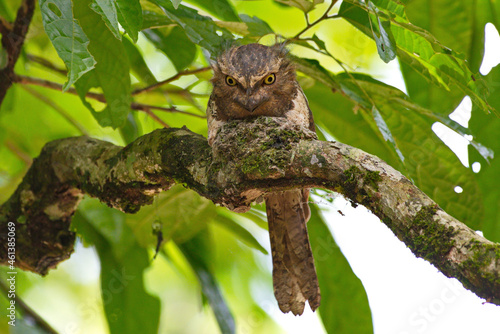
[[[249,44],[230,49],[221,62],[221,70],[241,83],[253,85],[268,73],[277,72],[282,58],[271,48]]]

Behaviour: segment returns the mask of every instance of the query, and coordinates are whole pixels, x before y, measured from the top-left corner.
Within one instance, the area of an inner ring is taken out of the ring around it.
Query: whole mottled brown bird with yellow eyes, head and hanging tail
[[[208,142],[228,120],[284,117],[315,131],[307,99],[283,45],[248,44],[222,53],[213,64],[213,92],[207,108]],[[320,303],[306,223],[309,189],[265,196],[273,257],[274,294],[283,312],[302,314]]]

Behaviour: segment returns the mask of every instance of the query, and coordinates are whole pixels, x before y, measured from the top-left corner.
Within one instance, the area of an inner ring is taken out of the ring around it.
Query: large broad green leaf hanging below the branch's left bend
[[[156,333],[160,302],[146,292],[143,281],[148,252],[134,239],[125,214],[97,200],[85,200],[72,224],[99,255],[101,295],[110,333]]]

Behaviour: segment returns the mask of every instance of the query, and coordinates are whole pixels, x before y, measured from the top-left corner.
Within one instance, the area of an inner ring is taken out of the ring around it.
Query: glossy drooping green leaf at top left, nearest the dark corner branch
[[[95,67],[96,60],[87,49],[87,35],[73,17],[72,2],[40,0],[40,11],[45,32],[68,68],[68,81],[63,85],[63,91],[66,91]]]

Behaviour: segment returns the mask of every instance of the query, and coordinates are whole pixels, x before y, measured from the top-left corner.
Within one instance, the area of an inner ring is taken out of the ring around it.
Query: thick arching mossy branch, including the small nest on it
[[[500,305],[499,244],[448,215],[379,158],[314,138],[284,119],[260,117],[227,123],[212,147],[186,128],[156,130],[124,148],[88,137],[53,141],[0,207],[0,229],[16,222],[16,264],[45,274],[73,250],[68,227],[84,193],[133,213],[182,183],[244,212],[266,192],[326,188],[370,209],[415,255]]]

